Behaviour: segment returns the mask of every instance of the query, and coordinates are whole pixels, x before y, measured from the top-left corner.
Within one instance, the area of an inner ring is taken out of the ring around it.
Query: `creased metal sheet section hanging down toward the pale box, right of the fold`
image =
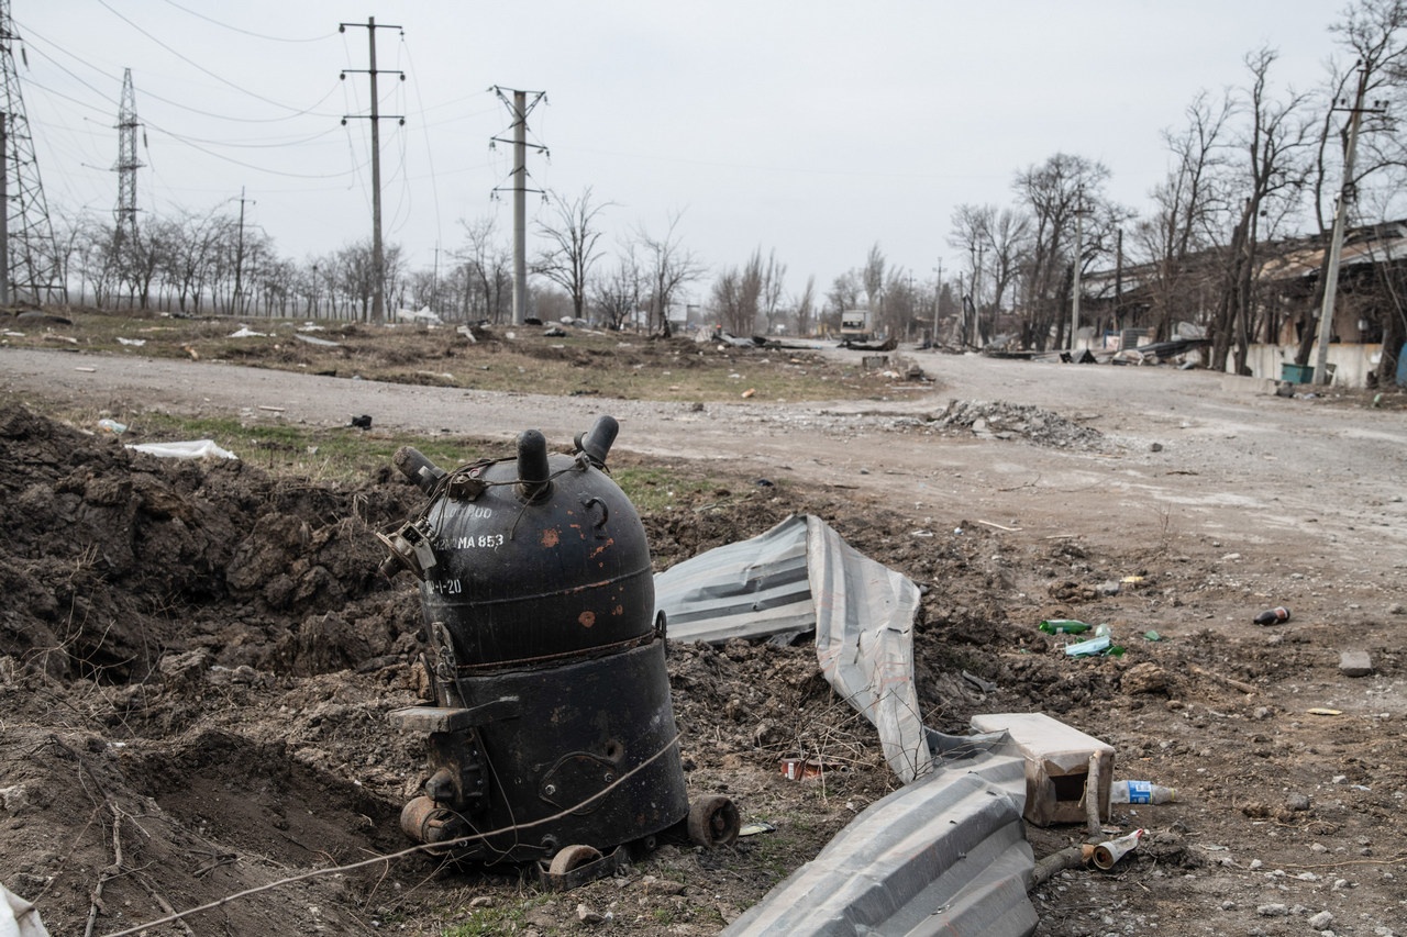
[[[895,775],[905,784],[922,778],[933,770],[933,756],[913,685],[919,587],[857,552],[819,518],[806,518],[806,563],[822,673],[874,723]]]

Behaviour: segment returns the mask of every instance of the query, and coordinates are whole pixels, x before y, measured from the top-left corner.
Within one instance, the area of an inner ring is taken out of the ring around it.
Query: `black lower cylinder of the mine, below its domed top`
[[[516,718],[478,727],[491,789],[469,820],[521,827],[476,844],[485,858],[525,861],[577,843],[605,851],[688,815],[663,639],[456,682],[467,708],[518,699]]]

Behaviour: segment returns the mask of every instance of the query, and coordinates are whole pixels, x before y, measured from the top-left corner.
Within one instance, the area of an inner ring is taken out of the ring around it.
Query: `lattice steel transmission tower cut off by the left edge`
[[[14,66],[14,48],[24,45],[10,18],[10,0],[0,0],[0,70],[3,70],[3,98],[0,98],[0,200],[4,203],[4,227],[0,228],[0,302],[27,298],[55,301],[66,295],[59,273],[58,242],[49,221],[49,205],[44,200],[39,163],[34,156],[30,118],[24,111],[20,73]],[[28,60],[25,59],[25,65]],[[11,288],[13,287],[13,288]]]

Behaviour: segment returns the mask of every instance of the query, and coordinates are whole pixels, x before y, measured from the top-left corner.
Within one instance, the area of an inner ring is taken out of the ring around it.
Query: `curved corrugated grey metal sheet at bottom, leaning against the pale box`
[[[940,767],[861,812],[723,934],[1027,937],[1034,857],[1012,791],[1024,765],[1009,740]]]

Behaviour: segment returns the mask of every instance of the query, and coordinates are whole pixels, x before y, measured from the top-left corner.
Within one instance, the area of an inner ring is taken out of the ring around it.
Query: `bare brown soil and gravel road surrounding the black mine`
[[[909,362],[931,381],[905,380]],[[668,846],[566,895],[511,869],[380,860],[407,846],[395,817],[424,751],[386,716],[416,699],[419,611],[405,577],[377,574],[373,530],[421,494],[390,471],[333,485],[158,460],[49,416],[369,414],[461,438],[469,461],[529,426],[570,445],[605,412],[622,422],[612,463],[725,480],[643,515],[658,568],[816,514],[926,589],[929,725],[1048,712],[1113,744],[1117,778],[1178,789],[1114,809],[1151,839],[1113,874],[1038,888],[1037,933],[1407,933],[1401,394],[1280,398],[1204,371],[924,352],[891,364],[864,400],[696,407],[0,349],[0,881],[55,934],[290,878],[148,933],[711,934],[758,900],[895,785],[809,647],[670,649],[691,793],[727,792],[772,833]],[[1276,605],[1289,622],[1252,623]],[[1047,618],[1107,623],[1127,650],[1071,658],[1036,629]],[[1345,650],[1373,673],[1341,673]],[[787,781],[778,758],[796,753],[836,767]],[[1029,834],[1037,857],[1083,840]]]

